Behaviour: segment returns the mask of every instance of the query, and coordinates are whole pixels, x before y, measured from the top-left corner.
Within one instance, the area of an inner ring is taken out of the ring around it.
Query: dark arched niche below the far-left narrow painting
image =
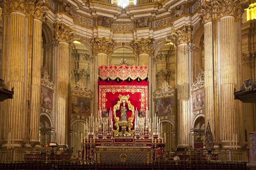
[[[47,113],[40,115],[40,143],[45,146],[47,143],[55,141],[52,138],[54,129],[52,127],[52,120]]]

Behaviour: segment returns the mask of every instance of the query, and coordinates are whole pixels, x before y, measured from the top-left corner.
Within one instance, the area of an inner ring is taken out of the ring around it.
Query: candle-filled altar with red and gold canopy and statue
[[[99,111],[86,121],[82,160],[148,164],[163,160],[165,135],[148,111],[147,66],[100,66]]]

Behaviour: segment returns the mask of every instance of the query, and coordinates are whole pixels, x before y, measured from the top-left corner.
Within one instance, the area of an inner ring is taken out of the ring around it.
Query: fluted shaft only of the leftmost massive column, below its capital
[[[15,93],[12,100],[7,100],[8,116],[5,119],[5,134],[11,133],[11,138],[15,141],[22,141],[24,138],[24,115],[25,115],[25,98],[24,87],[25,79],[25,14],[21,12],[10,13],[10,40],[8,42],[8,66],[9,75],[7,78],[8,89],[14,87]],[[23,42],[23,43],[22,43]]]

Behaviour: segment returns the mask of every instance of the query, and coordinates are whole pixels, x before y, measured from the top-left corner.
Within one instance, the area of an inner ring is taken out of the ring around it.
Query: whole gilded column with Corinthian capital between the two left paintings
[[[55,138],[61,147],[67,146],[67,115],[70,73],[70,43],[73,32],[64,24],[58,23],[54,29],[54,45],[57,58],[56,97],[55,97]]]

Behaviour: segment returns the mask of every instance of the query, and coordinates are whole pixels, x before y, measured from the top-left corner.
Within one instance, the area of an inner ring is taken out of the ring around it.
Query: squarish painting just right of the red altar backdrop
[[[157,116],[174,114],[175,97],[155,99],[155,112]]]

